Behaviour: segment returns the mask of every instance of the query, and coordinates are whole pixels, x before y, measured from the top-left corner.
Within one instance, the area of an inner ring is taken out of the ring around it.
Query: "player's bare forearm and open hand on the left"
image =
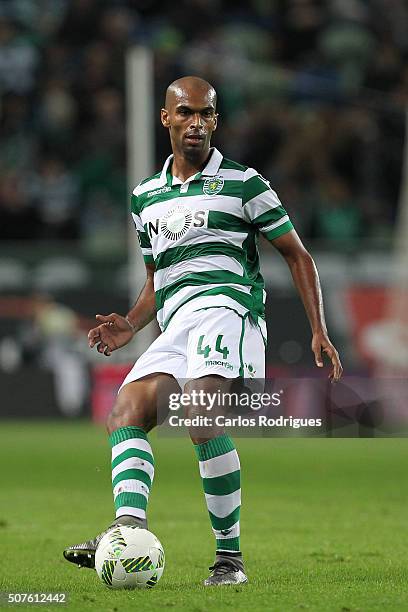
[[[156,303],[154,295],[154,264],[146,263],[146,282],[135,305],[126,316],[112,312],[109,315],[96,315],[99,325],[88,333],[90,348],[96,345],[99,353],[107,357],[130,342],[133,336],[154,318]]]

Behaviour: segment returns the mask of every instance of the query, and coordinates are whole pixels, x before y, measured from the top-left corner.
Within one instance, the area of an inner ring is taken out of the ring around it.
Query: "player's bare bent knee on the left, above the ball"
[[[120,427],[141,427],[148,432],[156,425],[155,417],[155,411],[150,410],[143,394],[124,387],[108,415],[106,428],[109,434]]]

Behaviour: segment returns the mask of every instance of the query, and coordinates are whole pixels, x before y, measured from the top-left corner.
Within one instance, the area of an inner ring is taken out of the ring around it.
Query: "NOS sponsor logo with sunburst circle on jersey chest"
[[[207,227],[208,210],[195,210],[188,206],[173,206],[169,212],[159,219],[149,221],[147,233],[150,240],[153,236],[163,234],[168,240],[179,240],[187,234],[190,227]]]

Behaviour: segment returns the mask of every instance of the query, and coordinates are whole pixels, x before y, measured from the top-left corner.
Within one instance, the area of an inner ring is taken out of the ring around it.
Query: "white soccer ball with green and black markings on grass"
[[[163,546],[147,529],[117,525],[99,542],[95,569],[112,589],[151,589],[163,574]]]

